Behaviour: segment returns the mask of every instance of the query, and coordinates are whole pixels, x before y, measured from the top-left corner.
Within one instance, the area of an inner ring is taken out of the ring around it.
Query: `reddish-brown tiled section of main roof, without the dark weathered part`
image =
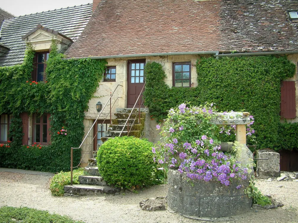
[[[101,0],[66,56],[216,51],[220,46],[220,3]]]

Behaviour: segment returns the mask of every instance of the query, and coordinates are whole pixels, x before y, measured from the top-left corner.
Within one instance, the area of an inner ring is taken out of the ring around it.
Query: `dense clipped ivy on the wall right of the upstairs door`
[[[280,132],[291,128],[280,123],[280,83],[295,73],[295,65],[285,57],[254,56],[202,58],[197,64],[198,86],[170,88],[164,83],[165,73],[159,63],[145,67],[145,105],[152,118],[163,120],[170,108],[183,103],[216,103],[222,111],[246,110],[255,117],[258,148],[292,149],[298,142],[285,141]],[[297,124],[291,124],[297,128]],[[288,131],[292,134],[293,131]],[[228,140],[232,140],[228,139]]]

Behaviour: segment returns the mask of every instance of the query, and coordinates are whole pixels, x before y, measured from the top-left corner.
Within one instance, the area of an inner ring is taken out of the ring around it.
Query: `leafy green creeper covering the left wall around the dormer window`
[[[52,44],[46,67],[46,82],[31,83],[34,51],[28,46],[23,64],[0,67],[0,114],[13,115],[13,141],[0,147],[0,166],[58,172],[70,169],[70,148],[78,147],[84,135],[84,111],[105,69],[105,60],[63,60]],[[50,113],[51,144],[41,149],[22,145],[20,114]],[[61,137],[58,131],[67,128]],[[29,147],[29,148],[27,148]],[[80,150],[74,150],[74,166]]]

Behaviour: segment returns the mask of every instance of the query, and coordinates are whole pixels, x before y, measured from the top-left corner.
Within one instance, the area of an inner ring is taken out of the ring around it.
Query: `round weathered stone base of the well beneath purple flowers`
[[[187,180],[185,173],[169,169],[169,208],[185,216],[226,217],[249,211],[252,207],[252,198],[244,194],[243,189],[236,189],[239,184],[244,188],[249,186],[249,179],[233,180],[230,186],[218,181]]]

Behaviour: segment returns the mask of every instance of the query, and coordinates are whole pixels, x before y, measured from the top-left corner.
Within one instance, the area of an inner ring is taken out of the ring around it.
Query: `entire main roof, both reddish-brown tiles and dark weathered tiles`
[[[297,0],[101,0],[66,56],[298,50]]]

